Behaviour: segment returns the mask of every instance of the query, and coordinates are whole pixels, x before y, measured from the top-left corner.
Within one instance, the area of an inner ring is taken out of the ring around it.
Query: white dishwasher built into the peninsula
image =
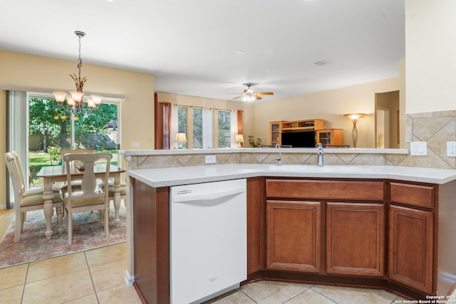
[[[170,187],[170,300],[201,303],[247,279],[247,182]]]

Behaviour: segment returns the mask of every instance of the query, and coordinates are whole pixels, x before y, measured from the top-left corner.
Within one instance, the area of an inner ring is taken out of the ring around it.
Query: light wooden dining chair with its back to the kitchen
[[[65,154],[63,161],[66,163],[66,182],[68,185],[67,197],[63,200],[66,209],[66,226],[68,228],[68,245],[73,241],[73,214],[86,211],[100,211],[100,224],[104,223],[105,236],[109,235],[109,198],[108,192],[100,192],[95,177],[95,162],[105,162],[103,182],[108,184],[110,160],[113,156],[109,153],[83,153]],[[73,191],[72,162],[83,162],[82,178],[78,192]]]

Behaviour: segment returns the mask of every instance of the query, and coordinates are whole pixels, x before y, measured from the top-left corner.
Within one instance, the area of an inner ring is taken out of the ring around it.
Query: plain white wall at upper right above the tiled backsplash
[[[456,1],[406,0],[406,112],[456,109]]]

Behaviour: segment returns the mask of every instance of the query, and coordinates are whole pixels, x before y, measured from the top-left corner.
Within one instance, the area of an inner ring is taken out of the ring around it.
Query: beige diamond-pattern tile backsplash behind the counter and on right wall
[[[337,150],[325,154],[325,164],[354,165],[393,165],[456,169],[456,157],[447,157],[447,142],[456,142],[456,110],[422,112],[406,115],[405,148],[410,151],[410,142],[427,142],[427,156],[410,154],[388,154],[382,150],[374,153],[338,153]],[[182,152],[182,151],[181,151]],[[213,152],[208,152],[213,154]],[[206,151],[188,154],[173,153],[133,155],[130,169],[167,167],[187,167],[204,165]],[[277,151],[274,149],[218,150],[215,164],[276,164]],[[316,164],[315,152],[285,152],[281,154],[284,164]],[[212,164],[207,164],[212,165]]]

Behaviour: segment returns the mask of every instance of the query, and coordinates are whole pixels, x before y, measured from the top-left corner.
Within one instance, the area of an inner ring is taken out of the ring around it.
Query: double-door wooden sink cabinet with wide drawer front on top
[[[323,256],[326,274],[385,276],[384,194],[380,181],[266,179],[267,268],[318,273]]]

